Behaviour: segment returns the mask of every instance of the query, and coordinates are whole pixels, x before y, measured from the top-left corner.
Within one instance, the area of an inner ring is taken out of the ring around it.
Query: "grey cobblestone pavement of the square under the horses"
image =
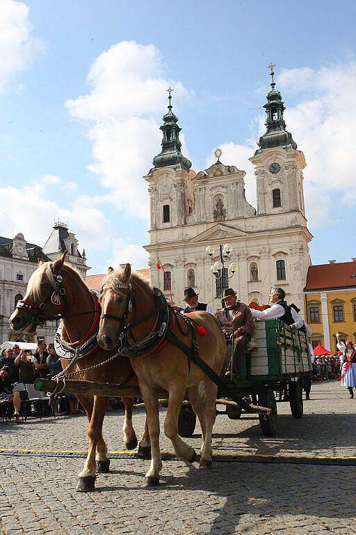
[[[165,410],[161,411],[161,420]],[[261,435],[258,420],[218,416],[216,453],[356,456],[356,399],[337,382],[312,387],[305,417],[278,405],[277,437]],[[144,412],[134,426],[143,430]],[[122,444],[122,412],[107,414],[104,437]],[[197,430],[198,431],[198,430]],[[161,448],[172,446],[161,435]],[[196,433],[186,439],[200,446]],[[86,449],[86,418],[30,419],[0,424],[0,448]],[[216,462],[211,470],[180,460],[163,462],[159,488],[145,488],[147,460],[111,461],[93,493],[76,493],[82,458],[0,456],[0,515],[4,535],[46,534],[356,534],[356,467]]]

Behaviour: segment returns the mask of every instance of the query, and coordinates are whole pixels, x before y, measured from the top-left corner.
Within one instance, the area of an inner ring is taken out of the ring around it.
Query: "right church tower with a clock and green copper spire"
[[[303,174],[305,158],[297,150],[296,141],[287,132],[283,112],[284,102],[275,88],[273,67],[270,64],[271,89],[267,94],[266,132],[259,138],[250,162],[256,166],[257,213],[259,215],[300,212],[305,217]]]

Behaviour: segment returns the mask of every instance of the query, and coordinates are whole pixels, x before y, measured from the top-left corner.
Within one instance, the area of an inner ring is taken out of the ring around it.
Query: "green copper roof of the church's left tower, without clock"
[[[175,165],[189,171],[192,162],[181,153],[181,142],[179,141],[181,128],[177,125],[178,117],[172,112],[172,104],[170,103],[172,96],[169,94],[168,98],[168,112],[163,115],[163,125],[160,127],[160,130],[163,132],[162,150],[159,155],[154,157],[153,164],[156,169],[168,165]]]

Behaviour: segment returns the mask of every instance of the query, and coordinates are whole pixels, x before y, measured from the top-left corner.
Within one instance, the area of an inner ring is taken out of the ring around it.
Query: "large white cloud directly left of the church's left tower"
[[[127,215],[148,219],[143,175],[160,151],[158,116],[167,106],[166,88],[175,100],[188,97],[180,82],[163,77],[163,61],[153,45],[124,41],[100,54],[90,68],[91,91],[65,103],[72,117],[93,121],[89,137],[97,173],[111,201]]]

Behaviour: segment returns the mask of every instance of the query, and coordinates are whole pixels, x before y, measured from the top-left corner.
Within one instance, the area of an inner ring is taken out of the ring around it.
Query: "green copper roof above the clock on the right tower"
[[[296,149],[296,141],[293,140],[292,134],[286,131],[286,123],[284,123],[283,112],[285,110],[284,102],[280,91],[275,88],[275,81],[273,79],[273,72],[271,68],[270,75],[272,76],[271,90],[267,94],[267,102],[264,104],[266,109],[266,133],[259,138],[257,144],[260,149],[285,147]],[[259,152],[257,150],[257,152]]]

